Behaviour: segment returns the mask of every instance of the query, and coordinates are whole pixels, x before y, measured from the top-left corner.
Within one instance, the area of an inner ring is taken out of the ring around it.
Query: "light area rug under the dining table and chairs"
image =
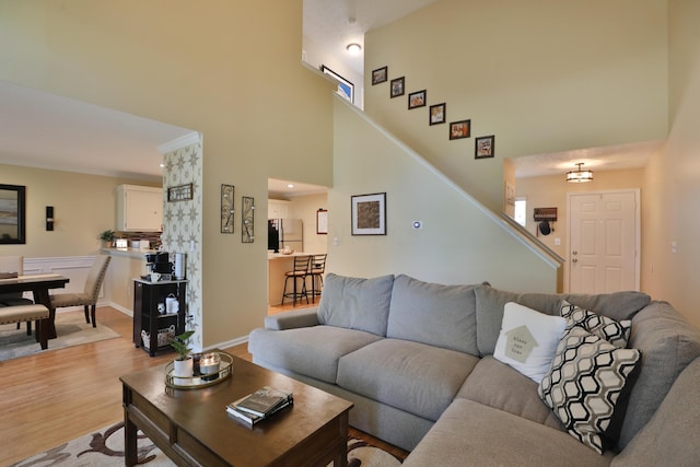
[[[32,328],[34,331],[34,326]],[[85,323],[85,315],[82,313],[59,313],[56,316],[56,335],[58,337],[49,339],[48,349],[44,352],[119,337],[107,326],[98,324],[93,328],[91,324]],[[36,338],[33,335],[26,335],[26,323],[22,323],[20,329],[16,324],[0,326],[0,361],[42,351],[42,346]]]

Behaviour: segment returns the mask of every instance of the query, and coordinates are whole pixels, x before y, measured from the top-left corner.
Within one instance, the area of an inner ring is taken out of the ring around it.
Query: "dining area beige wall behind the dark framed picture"
[[[26,187],[26,244],[0,245],[0,255],[26,258],[98,253],[100,232],[117,225],[117,185],[143,180],[0,164],[0,184]],[[54,231],[46,231],[46,207],[54,207]]]

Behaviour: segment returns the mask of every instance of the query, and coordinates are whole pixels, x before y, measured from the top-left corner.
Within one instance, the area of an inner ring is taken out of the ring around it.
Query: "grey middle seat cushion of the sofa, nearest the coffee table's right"
[[[420,342],[383,339],[338,363],[338,386],[438,420],[479,359]]]

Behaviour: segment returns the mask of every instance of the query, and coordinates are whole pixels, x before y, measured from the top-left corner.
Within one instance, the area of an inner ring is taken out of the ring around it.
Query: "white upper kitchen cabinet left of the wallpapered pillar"
[[[138,185],[117,187],[117,230],[122,232],[161,232],[163,226],[163,189]]]

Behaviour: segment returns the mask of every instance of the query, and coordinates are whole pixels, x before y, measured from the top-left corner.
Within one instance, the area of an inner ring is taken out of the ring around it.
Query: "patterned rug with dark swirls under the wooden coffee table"
[[[171,467],[175,464],[139,431],[139,464],[149,467]],[[122,466],[124,422],[106,427],[71,442],[32,456],[10,467],[45,466]],[[329,466],[332,465],[328,464]],[[348,439],[348,467],[399,467],[401,462],[392,454],[369,445],[363,440]]]

